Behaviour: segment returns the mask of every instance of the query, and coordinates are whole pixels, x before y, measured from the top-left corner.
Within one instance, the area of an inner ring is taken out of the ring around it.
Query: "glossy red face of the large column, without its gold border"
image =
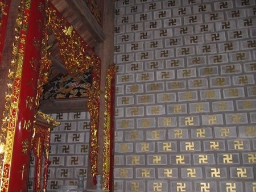
[[[44,5],[44,0],[31,0],[31,8],[25,10],[29,13],[27,34],[22,32],[25,44],[20,44],[20,51],[24,50],[24,60],[22,64],[22,79],[18,82],[16,91],[19,92],[18,111],[16,111],[15,135],[13,145],[13,156],[10,165],[9,190],[27,191],[28,170],[30,164],[30,148],[32,138],[32,122],[34,120],[35,98],[37,93],[37,81],[39,74],[40,46],[42,43],[42,28],[44,20],[44,9],[39,11],[38,6]],[[38,21],[41,20],[39,27]],[[39,47],[34,46],[34,39],[38,40]],[[34,60],[35,65],[31,65]],[[27,105],[27,100],[31,98],[31,105]],[[30,120],[31,124],[24,129],[24,123]],[[27,153],[24,153],[24,144],[28,141]]]

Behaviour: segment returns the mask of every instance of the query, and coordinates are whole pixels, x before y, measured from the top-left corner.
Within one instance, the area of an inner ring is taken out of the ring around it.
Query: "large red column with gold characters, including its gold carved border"
[[[3,123],[7,133],[1,191],[20,192],[27,191],[45,1],[21,0],[17,9],[8,85],[11,106],[6,107],[10,112]]]

